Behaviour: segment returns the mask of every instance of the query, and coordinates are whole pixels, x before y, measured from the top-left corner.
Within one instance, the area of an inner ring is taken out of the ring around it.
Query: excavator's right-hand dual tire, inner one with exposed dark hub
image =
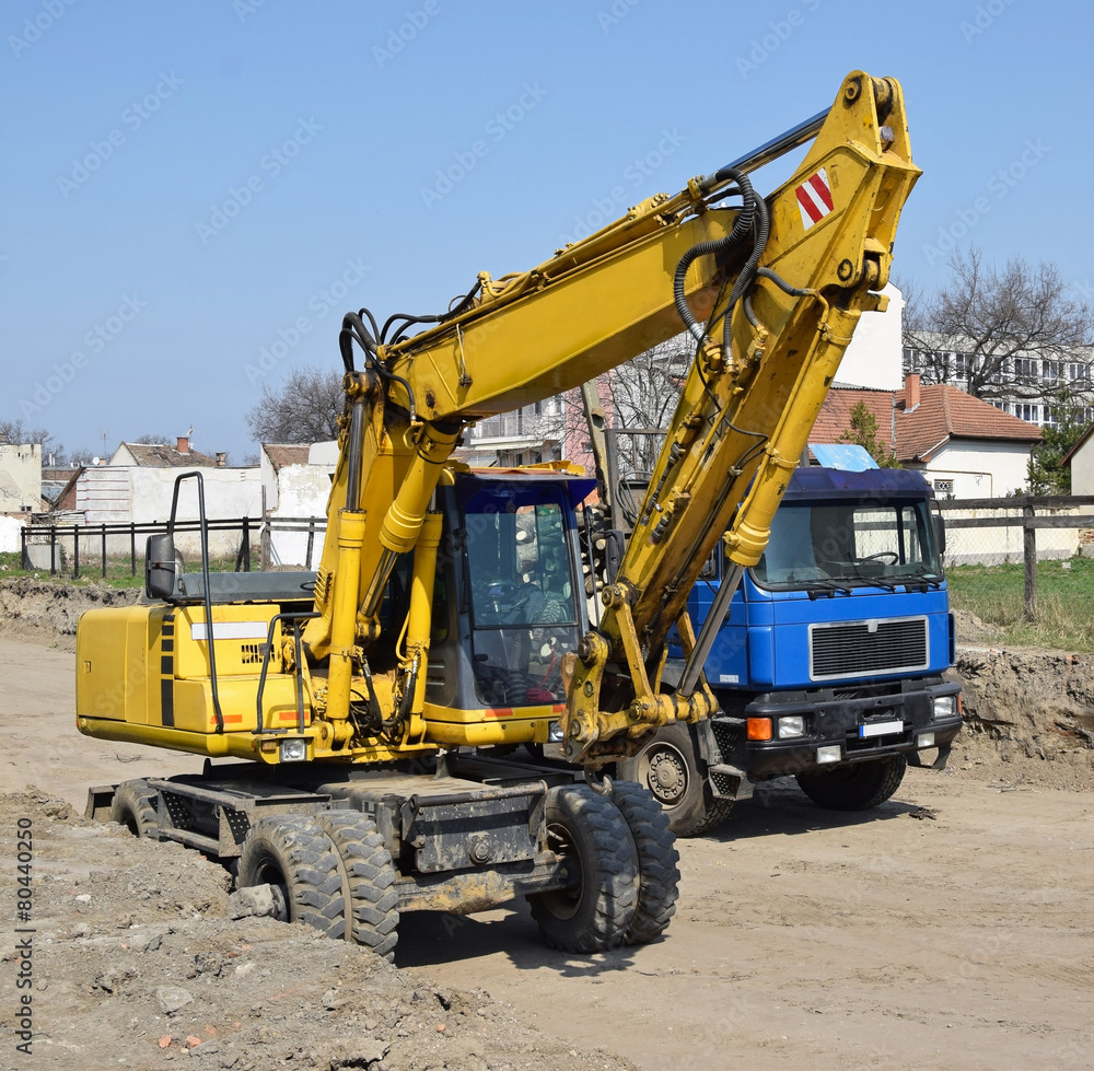
[[[586,784],[547,793],[547,843],[575,884],[528,897],[547,943],[563,952],[605,952],[627,938],[638,904],[638,852],[619,808]]]

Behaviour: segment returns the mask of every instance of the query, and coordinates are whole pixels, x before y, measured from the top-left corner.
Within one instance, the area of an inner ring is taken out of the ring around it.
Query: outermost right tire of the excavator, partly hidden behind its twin
[[[638,850],[638,905],[627,927],[627,944],[647,944],[664,933],[679,896],[679,852],[668,815],[647,789],[613,781],[612,802],[622,812]]]

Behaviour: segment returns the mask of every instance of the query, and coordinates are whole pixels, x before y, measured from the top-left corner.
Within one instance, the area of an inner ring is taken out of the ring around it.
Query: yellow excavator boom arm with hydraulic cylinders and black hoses
[[[814,132],[794,176],[757,198],[747,167]],[[758,560],[858,317],[883,307],[876,292],[919,175],[899,86],[861,71],[823,116],[736,164],[650,198],[531,271],[497,281],[484,272],[453,313],[414,337],[386,342],[347,317],[351,417],[319,616],[305,632],[313,654],[330,654],[328,706],[348,702],[359,643],[377,627],[386,578],[415,546],[462,429],[575,387],[687,327],[696,359],[679,407],[604,618],[569,666],[568,754],[608,761],[615,737],[709,712],[657,698],[665,636],[723,533],[735,562]],[[741,205],[728,207],[730,195]]]

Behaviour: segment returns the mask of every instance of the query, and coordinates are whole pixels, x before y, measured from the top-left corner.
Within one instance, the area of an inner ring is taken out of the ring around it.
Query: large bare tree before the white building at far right
[[[991,401],[1060,404],[1091,389],[1091,310],[1069,293],[1056,265],[1013,257],[998,269],[975,247],[950,259],[950,279],[905,309],[909,371]]]

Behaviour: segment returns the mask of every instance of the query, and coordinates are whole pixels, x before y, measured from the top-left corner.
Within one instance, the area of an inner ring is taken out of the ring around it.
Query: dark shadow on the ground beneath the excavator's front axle
[[[408,912],[400,920],[395,963],[399,967],[430,967],[505,955],[517,970],[546,968],[562,978],[591,978],[627,970],[640,951],[636,946],[578,955],[548,948],[527,904],[521,900],[476,916]]]

